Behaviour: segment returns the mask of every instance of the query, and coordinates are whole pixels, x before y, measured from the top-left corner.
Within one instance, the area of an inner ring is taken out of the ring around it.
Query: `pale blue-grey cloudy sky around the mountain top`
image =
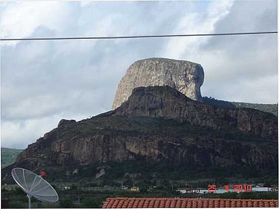
[[[0,37],[277,31],[276,1],[0,2]],[[200,63],[202,96],[277,103],[277,35],[1,42],[1,146],[108,111],[134,61]]]

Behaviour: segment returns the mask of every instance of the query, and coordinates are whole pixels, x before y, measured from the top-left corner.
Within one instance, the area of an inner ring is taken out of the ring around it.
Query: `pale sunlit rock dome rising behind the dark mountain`
[[[119,107],[136,87],[170,86],[187,97],[201,101],[204,73],[200,64],[166,58],[148,58],[134,62],[122,78],[113,109]]]

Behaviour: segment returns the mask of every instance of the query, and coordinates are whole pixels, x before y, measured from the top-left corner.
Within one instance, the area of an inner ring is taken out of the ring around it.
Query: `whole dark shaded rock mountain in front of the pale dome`
[[[277,118],[204,104],[166,86],[140,87],[116,110],[78,122],[61,120],[3,169],[2,176],[16,166],[35,170],[138,159],[198,168],[275,169]]]

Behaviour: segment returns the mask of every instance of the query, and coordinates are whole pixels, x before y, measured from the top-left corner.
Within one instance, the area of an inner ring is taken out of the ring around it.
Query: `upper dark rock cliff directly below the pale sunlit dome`
[[[173,118],[217,130],[244,131],[277,141],[277,118],[248,108],[221,108],[194,101],[170,87],[139,87],[129,99],[106,116]]]

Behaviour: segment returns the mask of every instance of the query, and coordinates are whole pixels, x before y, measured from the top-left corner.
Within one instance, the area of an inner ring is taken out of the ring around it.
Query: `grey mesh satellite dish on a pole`
[[[58,201],[59,197],[55,189],[40,175],[24,168],[14,168],[12,170],[12,176],[21,189],[27,194],[29,208],[31,208],[32,196],[40,201]]]

